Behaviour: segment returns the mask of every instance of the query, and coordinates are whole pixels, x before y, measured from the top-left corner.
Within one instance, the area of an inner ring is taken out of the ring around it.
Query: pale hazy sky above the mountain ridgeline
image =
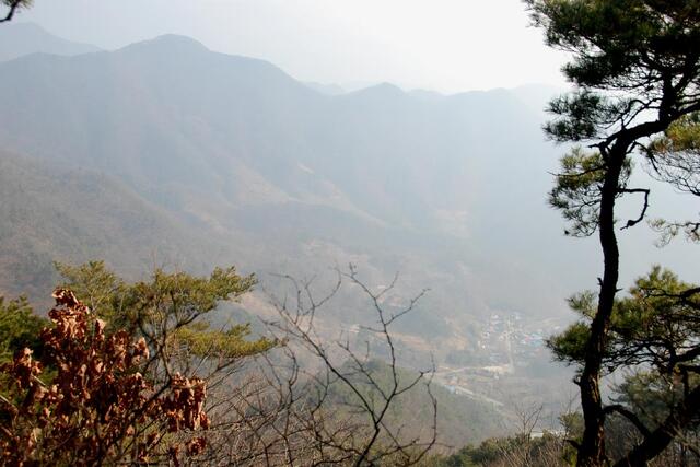
[[[563,83],[564,56],[520,0],[35,0],[19,19],[109,49],[184,34],[303,81],[443,92]]]

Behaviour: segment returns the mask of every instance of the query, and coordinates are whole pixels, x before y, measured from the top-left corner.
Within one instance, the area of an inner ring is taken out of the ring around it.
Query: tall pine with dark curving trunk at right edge
[[[607,462],[606,411],[600,377],[619,291],[618,229],[642,222],[650,190],[629,186],[634,157],[645,157],[653,138],[700,110],[700,1],[526,0],[549,46],[565,50],[574,92],[555,100],[546,132],[581,147],[562,161],[552,206],[573,223],[572,235],[598,233],[604,271],[585,335],[578,384],[584,416],[579,466]],[[617,223],[620,197],[641,197],[640,215]],[[645,439],[633,457],[656,453]],[[632,456],[632,453],[630,453]]]

